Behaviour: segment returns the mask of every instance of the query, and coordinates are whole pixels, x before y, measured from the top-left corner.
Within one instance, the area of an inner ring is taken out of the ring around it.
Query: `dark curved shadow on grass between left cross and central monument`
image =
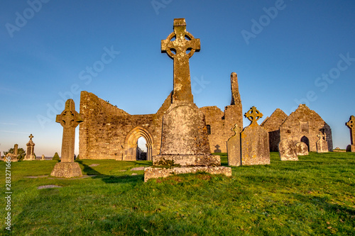
[[[89,167],[87,164],[84,164],[82,161],[76,161],[77,163],[81,164],[84,169],[82,169],[82,172],[87,175],[94,175],[91,178],[92,179],[101,179],[104,181],[106,184],[133,184],[136,185],[139,182],[143,182],[144,176],[143,174],[137,174],[137,175],[122,175],[122,176],[114,176],[114,175],[107,175],[107,174],[102,174],[100,172],[97,172],[97,170],[92,169],[92,167]],[[136,163],[136,164],[141,164],[141,163]]]

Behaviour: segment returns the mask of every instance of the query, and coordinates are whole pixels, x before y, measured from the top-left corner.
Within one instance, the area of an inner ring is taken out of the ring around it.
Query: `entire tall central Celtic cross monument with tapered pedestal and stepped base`
[[[186,31],[184,18],[174,19],[173,30],[161,41],[161,52],[174,63],[173,96],[163,116],[160,154],[153,156],[154,167],[144,169],[144,181],[200,171],[231,176],[231,168],[210,154],[204,114],[193,101],[189,59],[200,51],[200,39]]]

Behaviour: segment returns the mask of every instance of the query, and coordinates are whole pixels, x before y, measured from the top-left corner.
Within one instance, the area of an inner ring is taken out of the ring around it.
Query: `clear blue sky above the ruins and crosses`
[[[201,41],[190,58],[197,106],[223,111],[236,72],[243,112],[256,106],[259,124],[276,108],[289,115],[306,103],[332,128],[334,147],[345,148],[355,115],[354,12],[353,0],[3,1],[0,151],[26,149],[33,134],[37,156],[60,154],[55,115],[67,99],[79,112],[80,91],[130,114],[158,111],[173,89],[160,40],[174,18]]]

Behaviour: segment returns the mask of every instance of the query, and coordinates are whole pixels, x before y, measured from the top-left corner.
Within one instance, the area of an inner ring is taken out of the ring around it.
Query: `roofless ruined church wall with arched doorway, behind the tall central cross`
[[[136,160],[139,137],[146,140],[146,159],[160,153],[163,115],[172,103],[173,92],[154,114],[131,115],[95,94],[82,91],[79,152],[82,159]],[[231,104],[221,111],[217,106],[200,108],[204,114],[211,152],[226,152],[226,141],[238,124],[243,128],[243,113],[238,78],[231,73]]]

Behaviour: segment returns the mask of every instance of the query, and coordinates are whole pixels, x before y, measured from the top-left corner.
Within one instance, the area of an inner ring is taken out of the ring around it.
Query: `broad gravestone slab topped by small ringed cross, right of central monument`
[[[270,164],[268,132],[257,123],[263,114],[253,106],[244,116],[251,124],[241,132],[241,164]]]

